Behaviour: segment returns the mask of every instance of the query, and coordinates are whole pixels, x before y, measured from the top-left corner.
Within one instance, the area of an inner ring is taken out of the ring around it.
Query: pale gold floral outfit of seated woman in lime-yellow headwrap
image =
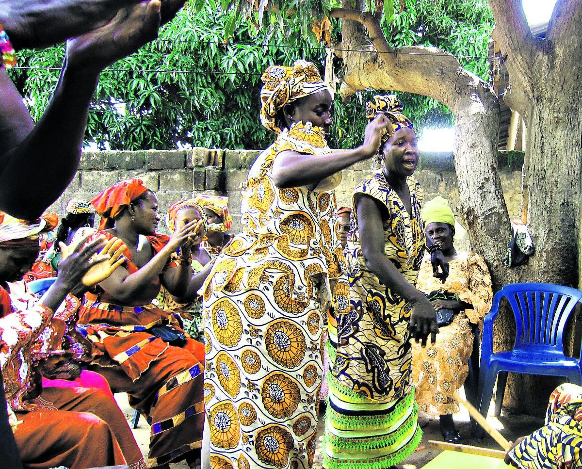
[[[455,414],[459,404],[453,393],[463,386],[469,374],[469,357],[473,350],[471,324],[478,324],[491,309],[493,291],[491,275],[483,258],[475,253],[459,253],[449,262],[445,283],[432,275],[430,258],[424,258],[418,273],[417,288],[424,293],[443,289],[456,293],[472,310],[455,315],[453,322],[439,328],[437,342],[423,349],[412,344],[413,381],[416,402],[421,411],[431,415]]]

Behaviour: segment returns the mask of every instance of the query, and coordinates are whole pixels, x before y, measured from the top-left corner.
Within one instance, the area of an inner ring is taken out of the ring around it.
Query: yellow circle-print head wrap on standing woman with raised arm
[[[281,132],[276,122],[279,109],[288,102],[328,90],[317,67],[302,59],[295,61],[292,67],[269,66],[261,80],[264,83],[261,88],[261,123],[275,133]]]

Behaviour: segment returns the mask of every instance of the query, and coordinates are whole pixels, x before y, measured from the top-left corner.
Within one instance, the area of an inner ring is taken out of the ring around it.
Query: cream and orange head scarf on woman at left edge
[[[0,211],[0,247],[39,247],[38,235],[51,231],[57,223],[56,214],[28,222]]]

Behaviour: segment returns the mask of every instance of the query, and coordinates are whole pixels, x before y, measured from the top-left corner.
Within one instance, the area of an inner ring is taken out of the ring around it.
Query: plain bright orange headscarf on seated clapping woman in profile
[[[148,190],[143,183],[141,179],[125,179],[113,184],[91,199],[91,205],[95,208],[95,212],[101,216],[100,230],[112,228],[115,217]]]

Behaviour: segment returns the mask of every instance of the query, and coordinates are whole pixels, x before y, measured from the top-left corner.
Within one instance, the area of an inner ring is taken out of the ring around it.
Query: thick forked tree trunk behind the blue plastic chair
[[[494,38],[510,78],[509,106],[527,123],[527,223],[536,244],[521,282],[579,286],[580,148],[582,93],[582,4],[558,0],[544,39],[533,38],[520,0],[489,0]],[[573,350],[573,319],[566,352]],[[543,413],[545,399],[564,378],[510,376],[505,404]]]

